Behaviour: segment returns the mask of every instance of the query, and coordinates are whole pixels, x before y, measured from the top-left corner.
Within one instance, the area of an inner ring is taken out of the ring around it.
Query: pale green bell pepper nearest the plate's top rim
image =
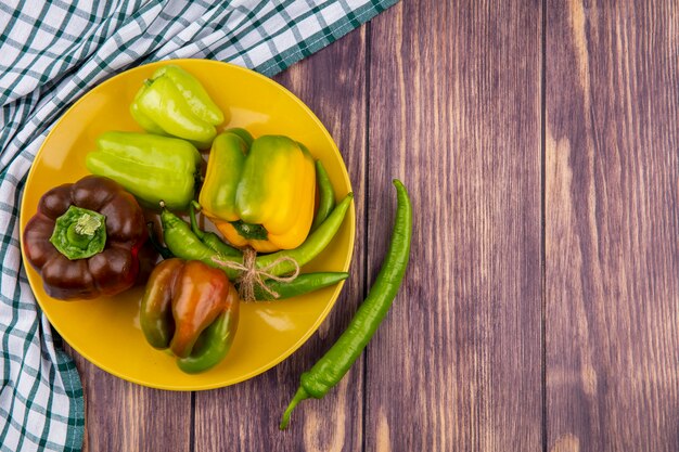
[[[130,105],[134,120],[146,131],[190,140],[209,147],[215,126],[225,120],[201,82],[179,66],[167,65],[144,81]]]

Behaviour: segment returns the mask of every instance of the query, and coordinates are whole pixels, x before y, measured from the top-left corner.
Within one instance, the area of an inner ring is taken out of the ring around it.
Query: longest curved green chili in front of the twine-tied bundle
[[[256,259],[257,268],[269,267],[282,257],[294,259],[299,267],[311,261],[325,249],[337,233],[353,199],[354,193],[348,193],[337,207],[333,209],[325,221],[323,221],[313,233],[309,234],[307,240],[297,248],[258,256]],[[191,231],[191,227],[187,222],[167,209],[163,209],[161,212],[161,221],[163,223],[165,243],[175,256],[188,260],[200,260],[210,267],[220,268],[231,280],[235,280],[239,276],[239,270],[217,263],[215,260],[242,264],[242,257],[221,256],[210,249]],[[293,271],[295,271],[295,266],[289,260],[284,260],[276,267],[267,269],[267,273],[274,276],[292,273]]]

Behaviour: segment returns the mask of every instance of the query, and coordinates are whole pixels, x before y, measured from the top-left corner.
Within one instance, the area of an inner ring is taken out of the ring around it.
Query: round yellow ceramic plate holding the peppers
[[[320,158],[338,198],[351,190],[346,167],[330,133],[290,91],[252,70],[206,60],[172,62],[197,77],[230,121],[255,137],[280,133],[305,143]],[[22,233],[40,196],[61,183],[88,173],[86,154],[106,130],[141,130],[128,105],[143,80],[167,62],[120,74],[82,96],[56,124],[38,152],[28,175],[21,210]],[[349,210],[331,245],[305,271],[347,271],[355,234]],[[22,243],[23,246],[23,243]],[[112,298],[62,301],[46,295],[39,274],[24,260],[28,281],[48,319],[80,354],[121,378],[162,389],[200,390],[232,385],[278,364],[319,327],[332,309],[342,284],[278,302],[245,304],[231,352],[218,366],[200,375],[182,373],[175,359],[146,344],[139,327],[142,288]]]

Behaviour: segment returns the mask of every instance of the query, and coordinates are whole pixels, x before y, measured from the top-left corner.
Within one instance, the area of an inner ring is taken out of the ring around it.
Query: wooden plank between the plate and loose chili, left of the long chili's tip
[[[362,441],[362,363],[323,400],[300,404],[289,430],[278,429],[299,375],[330,348],[362,299],[364,254],[366,30],[295,64],[276,80],[299,96],[340,147],[356,193],[350,276],[332,313],[300,349],[251,380],[195,395],[196,451],[358,451]]]

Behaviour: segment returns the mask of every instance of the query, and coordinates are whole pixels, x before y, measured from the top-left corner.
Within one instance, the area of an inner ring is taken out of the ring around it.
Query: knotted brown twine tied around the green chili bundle
[[[273,299],[278,299],[280,294],[269,287],[266,284],[266,280],[273,280],[279,283],[292,283],[299,275],[299,264],[290,256],[281,256],[268,266],[257,268],[257,251],[249,246],[243,249],[243,263],[220,260],[219,258],[213,258],[213,260],[220,266],[241,272],[241,275],[235,280],[235,285],[239,287],[239,295],[243,301],[257,300],[255,296],[255,285],[261,287],[261,289],[272,296]],[[292,262],[295,269],[292,274],[278,276],[270,273],[271,269],[283,262]]]

